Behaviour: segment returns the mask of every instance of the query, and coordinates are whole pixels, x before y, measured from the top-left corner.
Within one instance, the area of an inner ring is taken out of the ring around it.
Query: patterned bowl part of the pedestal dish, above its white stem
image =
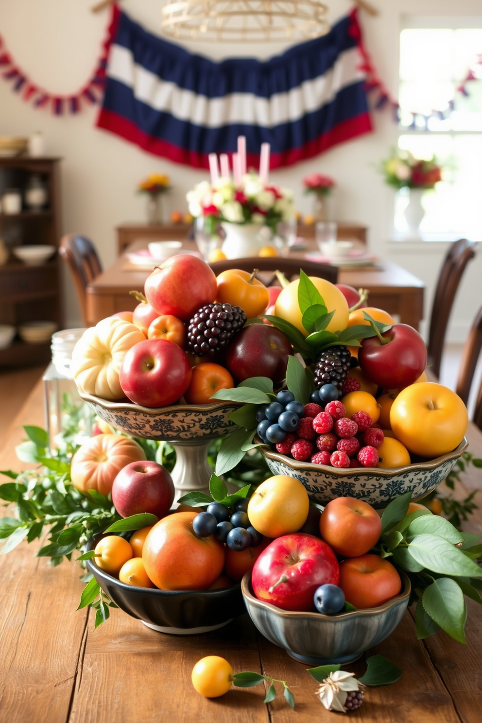
[[[107,401],[79,390],[79,395],[112,427],[132,437],[166,442],[215,440],[235,429],[229,415],[238,408],[234,402],[210,404],[173,404],[165,407],[143,407],[126,401]]]

